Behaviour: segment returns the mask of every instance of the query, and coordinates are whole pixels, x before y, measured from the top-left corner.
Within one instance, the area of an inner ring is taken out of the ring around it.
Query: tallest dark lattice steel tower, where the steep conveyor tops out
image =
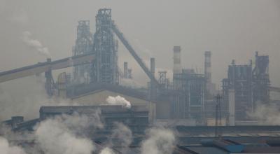
[[[92,81],[118,84],[118,41],[113,36],[111,9],[99,9],[96,15],[94,52],[97,60],[93,64]]]

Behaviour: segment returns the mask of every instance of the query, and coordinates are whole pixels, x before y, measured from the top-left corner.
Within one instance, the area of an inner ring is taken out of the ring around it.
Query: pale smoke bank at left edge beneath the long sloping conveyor
[[[48,97],[44,80],[43,76],[29,76],[1,83],[0,121],[8,120],[11,116],[24,116],[25,120],[38,118],[41,106],[73,105],[69,99]]]

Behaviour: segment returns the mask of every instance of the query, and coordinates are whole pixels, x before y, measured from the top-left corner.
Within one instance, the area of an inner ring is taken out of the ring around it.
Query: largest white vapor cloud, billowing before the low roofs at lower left
[[[94,119],[78,113],[50,118],[36,126],[36,141],[46,154],[90,154],[94,145],[83,137],[83,131],[94,123]]]

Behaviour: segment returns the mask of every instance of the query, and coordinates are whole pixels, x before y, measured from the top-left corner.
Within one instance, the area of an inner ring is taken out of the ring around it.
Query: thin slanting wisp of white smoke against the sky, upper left
[[[29,47],[34,48],[38,53],[44,55],[45,57],[50,57],[50,52],[48,48],[43,47],[42,43],[36,39],[32,39],[31,33],[29,31],[24,31],[22,33],[22,41],[26,43]]]

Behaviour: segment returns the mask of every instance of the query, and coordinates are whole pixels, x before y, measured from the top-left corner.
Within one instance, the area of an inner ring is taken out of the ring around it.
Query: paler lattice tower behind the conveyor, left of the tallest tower
[[[80,20],[77,27],[76,45],[73,46],[73,56],[93,52],[93,38],[90,33],[90,21]],[[92,64],[84,64],[73,68],[74,83],[89,83]]]

